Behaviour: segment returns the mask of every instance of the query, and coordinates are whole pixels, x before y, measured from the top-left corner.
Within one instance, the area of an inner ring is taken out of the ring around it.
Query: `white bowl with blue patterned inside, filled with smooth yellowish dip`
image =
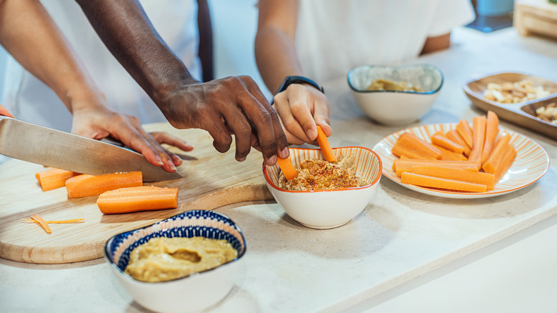
[[[205,210],[116,234],[104,247],[119,284],[155,312],[200,312],[221,301],[241,275],[245,253],[238,225]]]

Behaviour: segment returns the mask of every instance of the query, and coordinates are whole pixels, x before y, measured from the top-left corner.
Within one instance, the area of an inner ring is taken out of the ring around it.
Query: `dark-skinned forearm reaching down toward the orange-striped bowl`
[[[156,104],[176,85],[197,83],[157,34],[138,1],[76,1],[106,47]]]

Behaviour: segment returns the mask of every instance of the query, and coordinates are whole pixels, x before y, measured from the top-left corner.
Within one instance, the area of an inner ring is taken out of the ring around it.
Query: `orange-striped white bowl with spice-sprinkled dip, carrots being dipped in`
[[[278,165],[263,165],[267,187],[289,217],[303,226],[329,229],[360,214],[381,178],[381,158],[361,146],[333,148],[338,162],[323,160],[319,149],[290,148],[298,177],[287,181]]]

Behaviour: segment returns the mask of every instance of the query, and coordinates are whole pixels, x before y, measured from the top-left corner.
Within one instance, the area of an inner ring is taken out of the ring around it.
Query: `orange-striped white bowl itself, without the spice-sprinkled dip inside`
[[[356,176],[365,179],[368,184],[363,187],[333,189],[319,191],[291,191],[278,187],[281,169],[263,164],[263,174],[267,187],[276,202],[291,218],[306,227],[328,229],[348,223],[360,214],[371,202],[375,194],[382,165],[379,156],[371,149],[361,146],[345,146],[334,148],[338,158],[341,155],[352,155],[355,160]],[[290,159],[294,167],[299,167],[306,159],[323,159],[319,149],[290,148]]]

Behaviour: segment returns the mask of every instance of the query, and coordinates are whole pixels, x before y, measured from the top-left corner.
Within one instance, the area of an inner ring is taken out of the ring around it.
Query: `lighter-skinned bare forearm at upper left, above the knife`
[[[39,1],[0,1],[0,42],[16,61],[54,90],[69,111],[75,109],[72,104],[99,96]]]

